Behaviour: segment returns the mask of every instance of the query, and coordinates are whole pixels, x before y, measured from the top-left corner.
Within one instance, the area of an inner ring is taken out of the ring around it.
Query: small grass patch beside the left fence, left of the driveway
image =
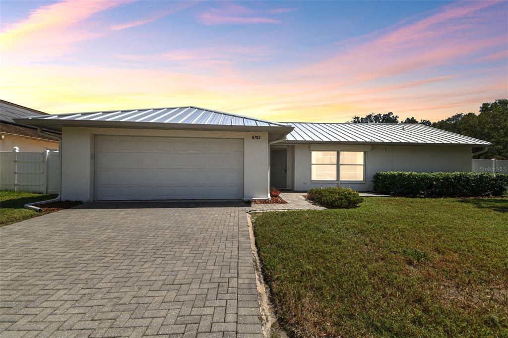
[[[23,206],[27,203],[51,199],[56,196],[54,194],[44,195],[25,191],[0,191],[0,227],[40,216],[40,213],[23,209]]]

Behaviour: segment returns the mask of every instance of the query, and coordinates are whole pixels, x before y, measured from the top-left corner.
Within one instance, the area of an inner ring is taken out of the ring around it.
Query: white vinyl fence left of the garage
[[[60,190],[60,160],[57,151],[42,153],[0,152],[0,190],[56,194]]]

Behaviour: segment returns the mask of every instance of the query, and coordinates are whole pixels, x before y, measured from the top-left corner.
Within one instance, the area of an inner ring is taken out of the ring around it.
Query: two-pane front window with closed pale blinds
[[[337,158],[339,159],[337,162]],[[363,181],[363,151],[312,151],[312,181]]]

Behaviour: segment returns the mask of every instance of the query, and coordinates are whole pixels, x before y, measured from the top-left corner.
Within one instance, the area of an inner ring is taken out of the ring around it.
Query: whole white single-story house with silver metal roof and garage
[[[267,199],[372,190],[378,171],[469,172],[489,142],[419,124],[271,122],[198,107],[30,116],[61,131],[66,200]]]

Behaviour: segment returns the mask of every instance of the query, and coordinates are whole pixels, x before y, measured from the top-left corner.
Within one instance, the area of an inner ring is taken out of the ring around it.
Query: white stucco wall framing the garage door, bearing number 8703
[[[194,131],[124,128],[62,129],[62,199],[94,199],[94,140],[97,135],[243,139],[244,199],[269,198],[269,145],[267,132]],[[261,139],[252,139],[253,135]]]

